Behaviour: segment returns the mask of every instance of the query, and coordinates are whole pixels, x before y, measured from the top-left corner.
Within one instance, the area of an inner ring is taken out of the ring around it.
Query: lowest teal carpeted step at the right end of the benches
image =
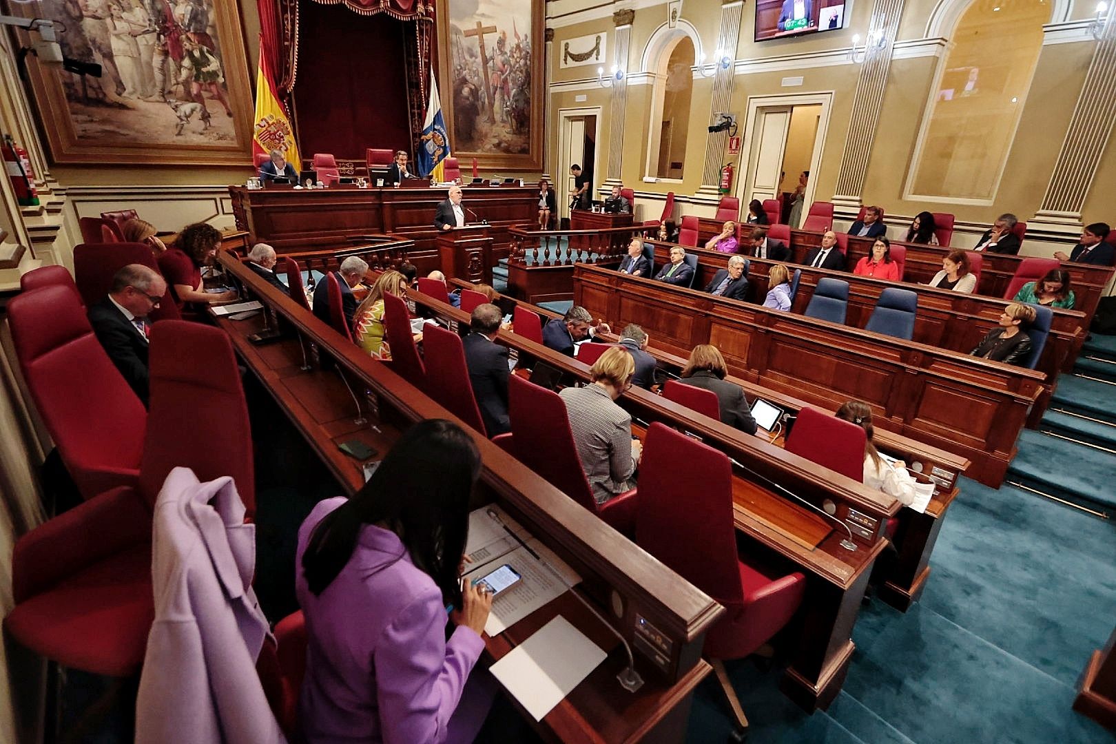
[[[1090,502],[1109,512],[1116,508],[1116,455],[1031,429],[1023,429],[1017,444],[1008,483],[1094,509]]]

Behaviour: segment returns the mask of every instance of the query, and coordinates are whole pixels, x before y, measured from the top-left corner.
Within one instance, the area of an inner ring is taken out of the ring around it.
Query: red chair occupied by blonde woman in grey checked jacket
[[[508,416],[512,447],[521,463],[617,531],[634,534],[635,489],[597,503],[577,456],[566,404],[557,393],[512,375],[508,378]]]

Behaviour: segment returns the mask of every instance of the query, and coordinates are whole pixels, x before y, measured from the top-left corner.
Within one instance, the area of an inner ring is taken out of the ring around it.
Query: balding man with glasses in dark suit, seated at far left
[[[113,274],[108,294],[89,307],[89,325],[108,358],[147,405],[147,316],[166,293],[158,272],[129,263]]]

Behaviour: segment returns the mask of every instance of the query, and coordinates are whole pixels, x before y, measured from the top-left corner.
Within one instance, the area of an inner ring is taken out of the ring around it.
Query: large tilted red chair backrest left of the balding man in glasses
[[[8,315],[31,399],[81,496],[135,483],[147,412],[93,335],[77,294],[44,287],[13,297]]]

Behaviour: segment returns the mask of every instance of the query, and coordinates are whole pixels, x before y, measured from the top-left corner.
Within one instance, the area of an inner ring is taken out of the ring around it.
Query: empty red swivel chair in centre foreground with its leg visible
[[[702,656],[716,670],[737,726],[745,729],[722,661],[753,654],[787,625],[802,603],[806,577],[741,559],[733,520],[728,456],[652,424],[639,468],[636,543],[724,606]]]

